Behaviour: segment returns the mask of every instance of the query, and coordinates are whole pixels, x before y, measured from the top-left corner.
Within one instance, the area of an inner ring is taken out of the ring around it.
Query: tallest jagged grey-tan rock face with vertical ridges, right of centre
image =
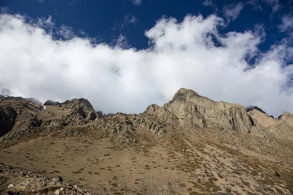
[[[256,135],[263,134],[264,131],[240,104],[212,101],[189,89],[177,91],[163,108],[152,107],[148,107],[146,112],[152,112],[164,121],[174,121],[177,117],[178,124],[182,127],[221,128]]]

